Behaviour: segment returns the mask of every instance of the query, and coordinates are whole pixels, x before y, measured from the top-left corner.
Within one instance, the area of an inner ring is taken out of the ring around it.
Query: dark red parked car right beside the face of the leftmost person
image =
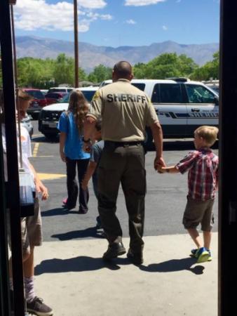
[[[39,89],[34,89],[34,88],[22,88],[22,89],[34,97],[34,100],[32,100],[32,103],[30,103],[29,105],[27,113],[31,114],[32,119],[37,119],[39,116],[39,112],[41,112],[42,107],[45,107],[47,105],[46,98]]]

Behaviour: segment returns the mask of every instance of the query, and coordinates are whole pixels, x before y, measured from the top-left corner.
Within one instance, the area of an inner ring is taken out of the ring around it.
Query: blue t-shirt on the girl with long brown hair
[[[72,112],[62,112],[60,120],[57,124],[57,129],[67,133],[65,142],[65,155],[69,159],[89,159],[90,154],[83,151],[82,135],[79,135],[79,130],[75,124],[74,115]]]

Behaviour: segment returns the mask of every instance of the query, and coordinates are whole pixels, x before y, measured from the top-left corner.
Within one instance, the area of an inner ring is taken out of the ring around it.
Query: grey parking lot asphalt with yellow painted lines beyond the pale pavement
[[[97,216],[97,200],[90,183],[89,211],[79,214],[78,209],[65,211],[62,209],[62,199],[67,196],[65,164],[59,155],[58,142],[49,142],[37,132],[37,122],[34,122],[34,136],[32,150],[34,157],[31,161],[40,174],[43,183],[48,187],[50,197],[41,202],[43,216],[44,239],[57,241],[67,239],[100,237],[95,228]],[[164,158],[167,165],[175,164],[194,145],[188,140],[164,140]],[[217,149],[215,149],[217,152]],[[146,154],[147,195],[146,218],[144,235],[157,236],[169,234],[183,234],[182,214],[187,196],[187,174],[159,174],[154,171],[155,152],[150,150]],[[217,199],[216,199],[217,201]],[[215,202],[215,227],[217,231],[217,202]],[[123,192],[118,192],[117,215],[121,221],[123,235],[128,237],[128,215],[126,213]]]

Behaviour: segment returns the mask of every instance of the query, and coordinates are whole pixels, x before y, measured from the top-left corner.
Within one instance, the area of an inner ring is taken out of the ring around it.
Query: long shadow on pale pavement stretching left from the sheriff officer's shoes
[[[79,256],[69,259],[53,258],[41,261],[35,267],[35,275],[43,273],[60,273],[60,272],[83,272],[95,271],[107,268],[109,270],[119,270],[119,265],[128,265],[127,258],[116,258],[114,261],[104,262],[102,258],[92,258],[88,256]]]

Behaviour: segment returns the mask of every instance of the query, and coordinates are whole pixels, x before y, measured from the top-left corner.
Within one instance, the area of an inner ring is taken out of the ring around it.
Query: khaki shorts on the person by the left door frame
[[[34,216],[27,216],[21,219],[22,233],[22,254],[29,254],[32,246],[41,246],[42,220],[39,207],[39,199],[34,199]],[[9,238],[9,246],[11,248],[11,238]]]

